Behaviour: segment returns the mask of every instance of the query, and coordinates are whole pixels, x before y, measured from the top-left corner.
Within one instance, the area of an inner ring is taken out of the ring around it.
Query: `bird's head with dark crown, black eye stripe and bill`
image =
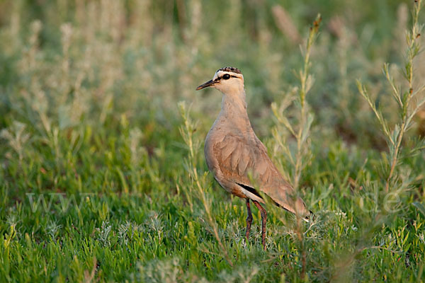
[[[234,67],[224,67],[218,69],[212,80],[201,84],[196,88],[197,91],[203,88],[217,88],[224,94],[239,93],[244,91],[244,76],[241,71]]]

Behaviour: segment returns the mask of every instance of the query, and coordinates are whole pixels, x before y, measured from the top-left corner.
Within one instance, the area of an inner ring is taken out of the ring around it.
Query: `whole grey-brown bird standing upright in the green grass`
[[[234,67],[218,69],[210,81],[196,90],[203,88],[216,88],[223,94],[220,114],[205,138],[204,154],[208,169],[227,192],[246,200],[247,242],[252,224],[250,202],[259,209],[261,243],[266,250],[267,212],[261,206],[265,203],[262,195],[305,221],[309,221],[313,214],[283,178],[268,156],[266,146],[252,129],[246,112],[242,72]]]

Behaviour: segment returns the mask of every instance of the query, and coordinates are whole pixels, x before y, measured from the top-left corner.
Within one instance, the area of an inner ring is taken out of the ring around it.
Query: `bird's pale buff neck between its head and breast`
[[[227,122],[242,131],[250,130],[248,113],[246,112],[245,91],[238,93],[225,93],[222,98],[220,120]]]

